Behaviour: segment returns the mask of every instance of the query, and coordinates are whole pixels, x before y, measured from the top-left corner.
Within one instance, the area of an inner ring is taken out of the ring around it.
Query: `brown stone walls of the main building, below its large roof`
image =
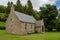
[[[27,29],[25,29],[27,24]],[[32,27],[31,27],[32,25]],[[12,12],[10,13],[6,21],[6,31],[13,34],[27,34],[29,32],[34,33],[35,25],[33,23],[21,22],[18,17]]]

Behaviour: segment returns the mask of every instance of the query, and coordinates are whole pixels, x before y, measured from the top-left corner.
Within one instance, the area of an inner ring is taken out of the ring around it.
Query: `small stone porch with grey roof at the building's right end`
[[[44,33],[45,32],[45,26],[44,26],[43,19],[39,20],[39,21],[36,21],[35,24],[36,24],[35,32],[38,32],[38,33]]]

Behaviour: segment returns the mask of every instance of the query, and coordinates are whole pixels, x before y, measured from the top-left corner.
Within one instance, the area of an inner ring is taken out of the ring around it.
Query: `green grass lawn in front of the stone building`
[[[59,32],[46,32],[45,34],[13,35],[0,30],[0,40],[60,40]]]

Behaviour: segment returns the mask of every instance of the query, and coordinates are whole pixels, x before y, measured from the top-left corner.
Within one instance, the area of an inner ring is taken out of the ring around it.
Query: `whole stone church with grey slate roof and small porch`
[[[33,16],[15,11],[12,6],[6,21],[6,31],[12,34],[42,33],[45,27],[43,19],[37,21]]]

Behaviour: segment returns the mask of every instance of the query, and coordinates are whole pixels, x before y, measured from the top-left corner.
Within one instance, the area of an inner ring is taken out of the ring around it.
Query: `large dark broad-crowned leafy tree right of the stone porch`
[[[54,21],[58,15],[58,11],[55,5],[46,5],[46,7],[40,7],[41,17],[44,19],[45,27],[48,31],[52,31],[55,26]]]

